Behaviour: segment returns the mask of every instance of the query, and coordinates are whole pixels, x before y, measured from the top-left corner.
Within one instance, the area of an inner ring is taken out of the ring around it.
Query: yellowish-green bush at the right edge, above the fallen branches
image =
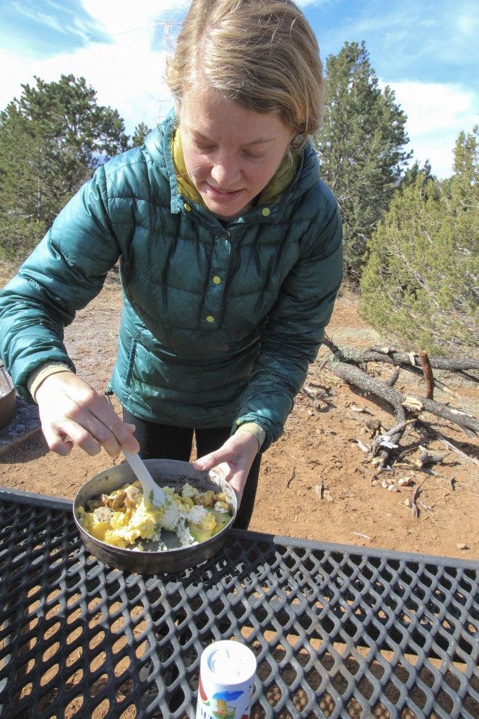
[[[478,128],[461,134],[455,174],[419,173],[398,192],[368,243],[360,315],[434,354],[479,347]]]

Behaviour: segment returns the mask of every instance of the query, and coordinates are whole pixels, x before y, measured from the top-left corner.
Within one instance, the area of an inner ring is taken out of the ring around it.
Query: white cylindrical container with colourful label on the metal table
[[[201,654],[196,719],[249,719],[256,657],[238,641],[215,641]]]

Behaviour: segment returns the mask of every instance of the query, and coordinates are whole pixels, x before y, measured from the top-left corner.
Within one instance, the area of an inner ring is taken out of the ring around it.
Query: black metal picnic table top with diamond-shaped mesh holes
[[[89,556],[67,500],[0,488],[0,717],[193,719],[219,638],[252,719],[479,718],[479,562],[232,531],[142,576]]]

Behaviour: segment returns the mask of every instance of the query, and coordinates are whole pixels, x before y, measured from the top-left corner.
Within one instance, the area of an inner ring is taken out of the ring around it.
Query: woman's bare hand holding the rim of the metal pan
[[[249,432],[238,432],[229,437],[216,452],[196,459],[193,467],[195,470],[217,470],[218,474],[232,486],[239,506],[257,451],[256,437]]]

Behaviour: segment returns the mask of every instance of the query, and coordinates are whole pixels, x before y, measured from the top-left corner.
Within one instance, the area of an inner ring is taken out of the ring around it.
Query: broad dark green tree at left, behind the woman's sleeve
[[[84,78],[22,85],[0,113],[0,249],[26,255],[63,205],[128,137]]]

